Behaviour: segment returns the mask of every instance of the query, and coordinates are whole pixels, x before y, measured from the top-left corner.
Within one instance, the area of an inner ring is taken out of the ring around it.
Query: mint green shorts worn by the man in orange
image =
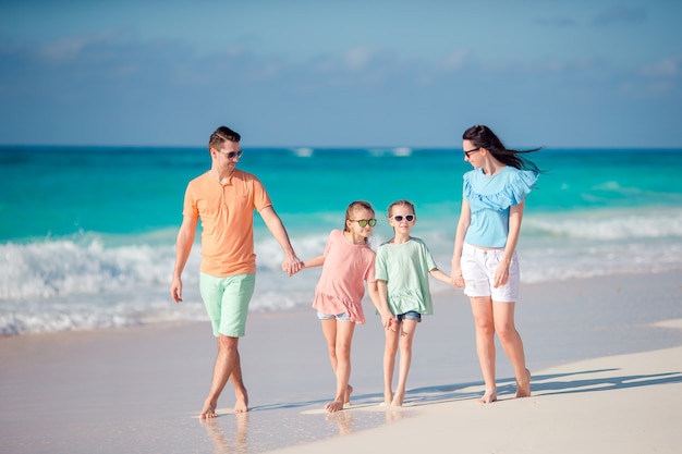
[[[199,291],[214,335],[243,338],[248,303],[256,286],[256,273],[216,278],[202,272]]]

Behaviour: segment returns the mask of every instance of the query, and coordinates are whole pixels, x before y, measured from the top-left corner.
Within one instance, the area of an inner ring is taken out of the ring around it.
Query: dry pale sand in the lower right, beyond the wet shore
[[[444,392],[409,417],[278,453],[679,453],[682,347],[595,358],[541,371],[528,398],[477,404]],[[479,388],[479,386],[477,386]],[[356,412],[362,412],[358,409]]]

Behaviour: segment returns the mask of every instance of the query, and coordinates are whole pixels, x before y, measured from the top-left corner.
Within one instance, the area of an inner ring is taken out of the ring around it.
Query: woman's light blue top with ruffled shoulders
[[[509,234],[509,208],[535,188],[538,172],[507,165],[492,176],[474,169],[464,174],[462,196],[468,201],[472,221],[464,242],[474,246],[504,247]]]

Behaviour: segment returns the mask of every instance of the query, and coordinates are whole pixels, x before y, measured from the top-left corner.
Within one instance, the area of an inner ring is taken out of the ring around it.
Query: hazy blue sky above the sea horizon
[[[0,0],[0,144],[682,147],[678,0]]]

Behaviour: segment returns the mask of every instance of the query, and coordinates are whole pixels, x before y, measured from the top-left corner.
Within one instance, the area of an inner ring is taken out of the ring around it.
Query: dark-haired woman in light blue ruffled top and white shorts
[[[452,283],[471,298],[476,324],[476,352],[485,382],[480,403],[497,401],[495,334],[516,376],[516,397],[531,395],[523,342],[514,326],[519,296],[516,243],[525,196],[535,187],[538,168],[512,150],[487,126],[475,125],[462,136],[464,174],[462,212],[452,255]]]

